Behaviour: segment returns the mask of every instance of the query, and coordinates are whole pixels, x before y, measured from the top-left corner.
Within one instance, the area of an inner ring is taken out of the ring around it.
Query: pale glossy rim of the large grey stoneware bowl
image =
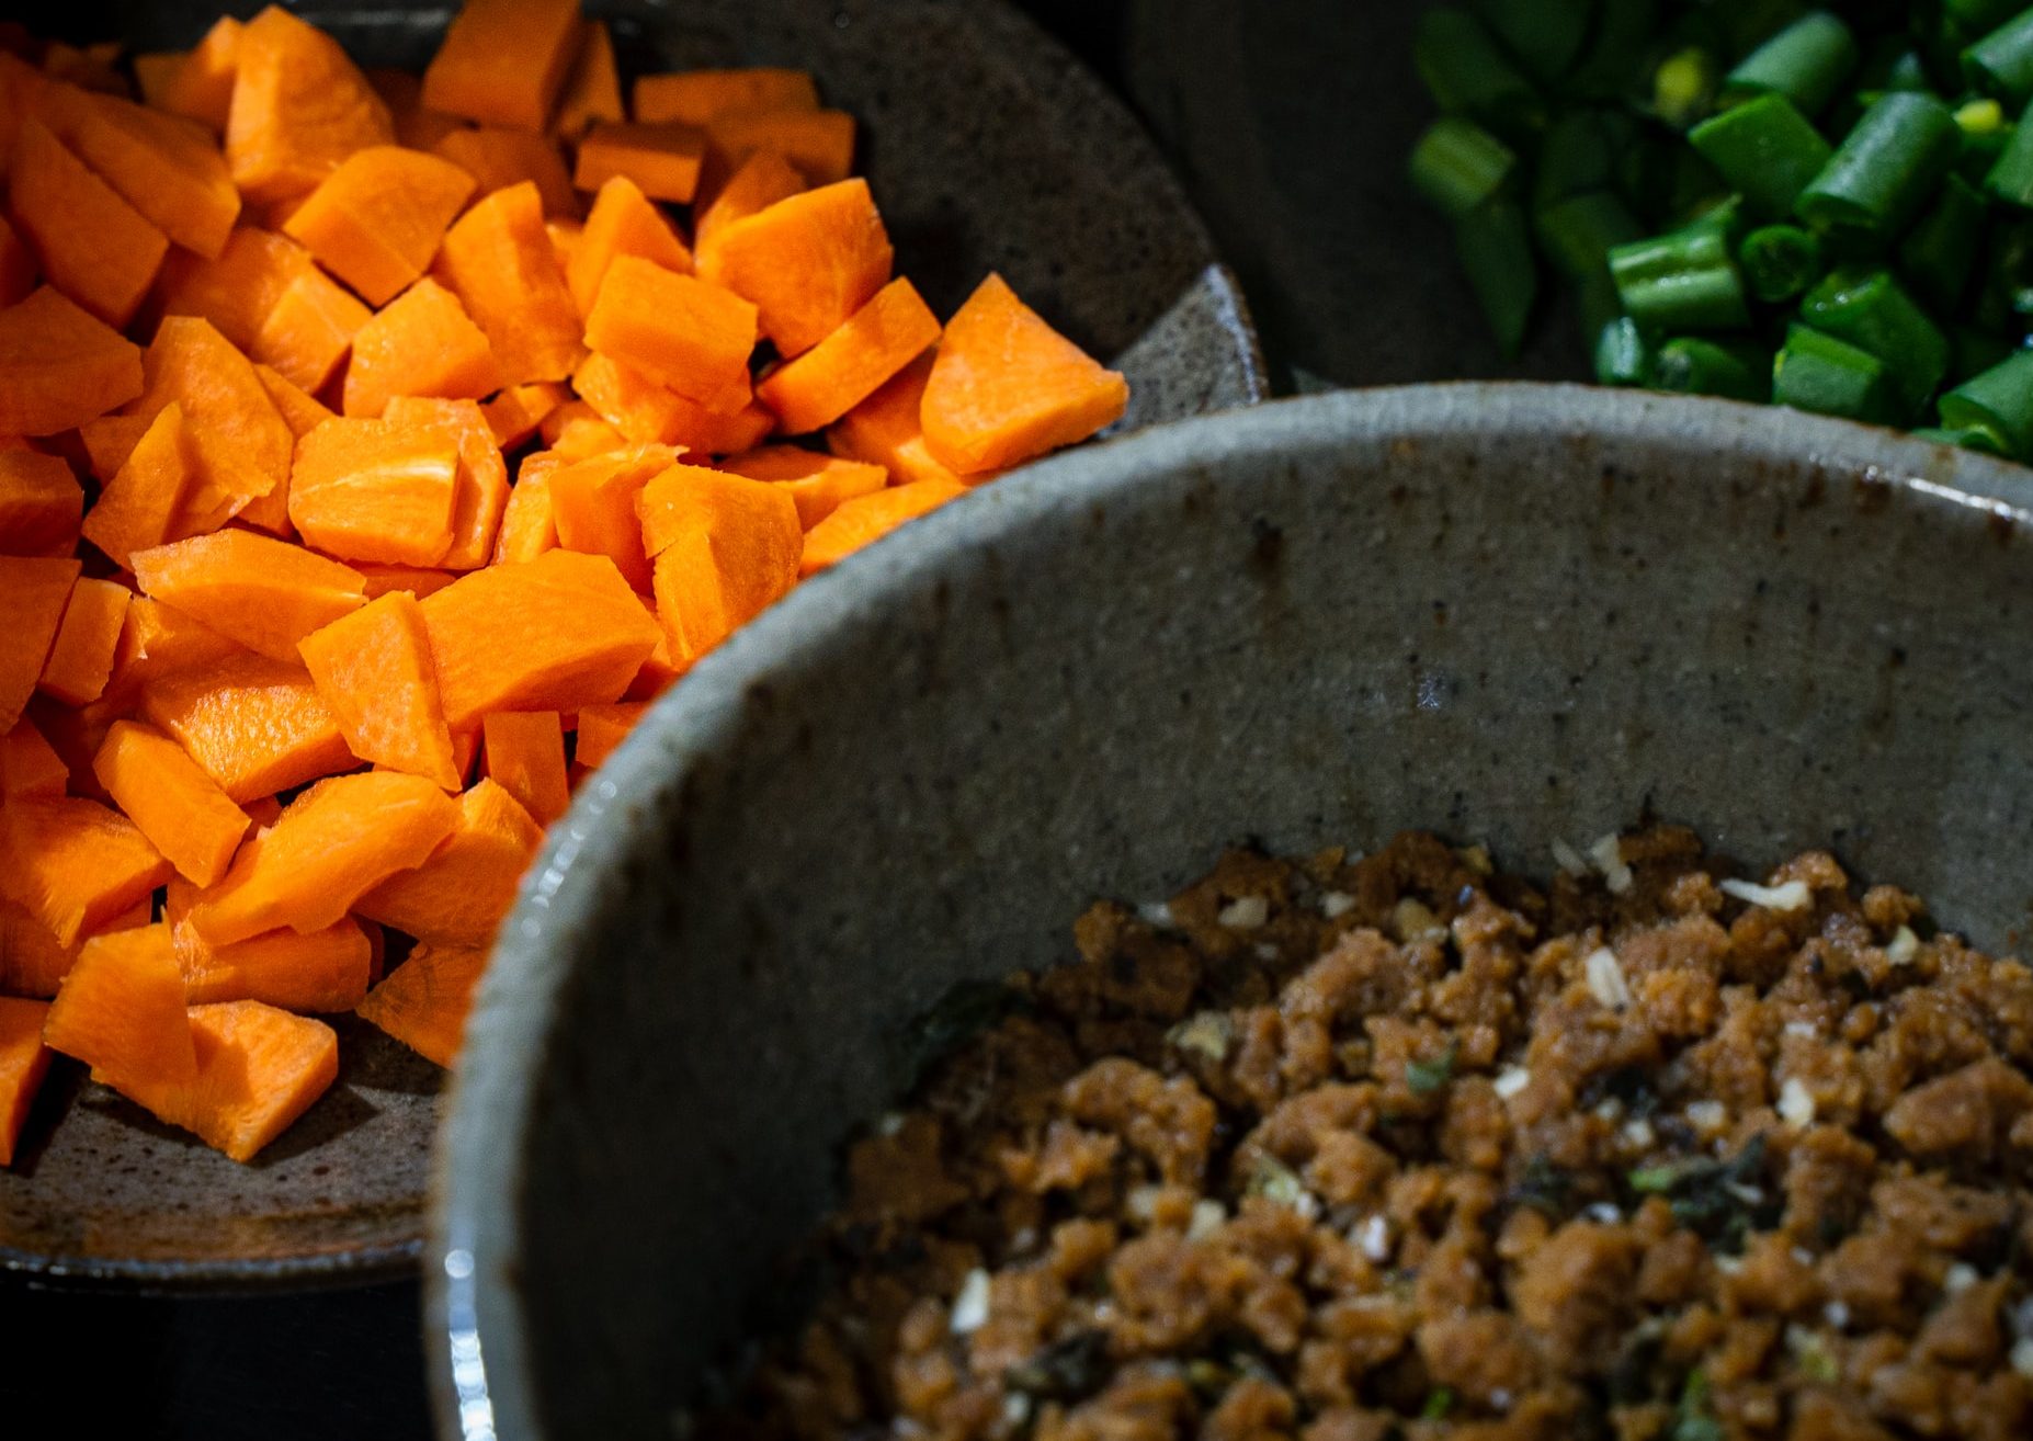
[[[1736,400],[1445,382],[1273,400],[1067,451],[813,577],[657,701],[553,827],[502,927],[435,1150],[423,1329],[441,1433],[466,1441],[541,1435],[514,1280],[520,1140],[559,994],[579,955],[573,937],[590,927],[598,876],[632,843],[624,813],[681,789],[695,766],[738,744],[754,685],[779,667],[797,669],[842,626],[931,583],[968,553],[1116,496],[1193,484],[1210,457],[1545,431],[1807,463],[1905,490],[1942,524],[2033,526],[2033,469],[1893,431]]]

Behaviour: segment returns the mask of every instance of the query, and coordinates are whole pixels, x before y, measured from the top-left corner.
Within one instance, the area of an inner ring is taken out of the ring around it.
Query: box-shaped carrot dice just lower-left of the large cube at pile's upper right
[[[730,413],[748,402],[756,307],[640,256],[616,256],[586,317],[586,343],[689,400]]]

